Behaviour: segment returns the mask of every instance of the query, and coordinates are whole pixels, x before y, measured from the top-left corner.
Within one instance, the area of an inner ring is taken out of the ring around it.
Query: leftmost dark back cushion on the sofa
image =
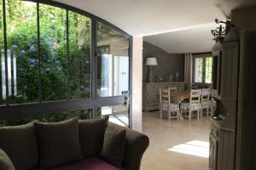
[[[34,123],[0,128],[0,148],[14,163],[16,170],[38,166],[38,141]]]

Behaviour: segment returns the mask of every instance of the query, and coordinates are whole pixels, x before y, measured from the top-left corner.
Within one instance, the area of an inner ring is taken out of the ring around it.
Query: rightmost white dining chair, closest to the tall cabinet
[[[201,89],[201,116],[203,115],[204,110],[207,110],[207,116],[209,116],[209,111],[212,111],[212,102],[210,101],[210,95],[210,88]]]

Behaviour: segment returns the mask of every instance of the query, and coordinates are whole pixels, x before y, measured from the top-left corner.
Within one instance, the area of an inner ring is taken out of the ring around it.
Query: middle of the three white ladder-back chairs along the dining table
[[[181,111],[182,115],[183,113],[185,116],[189,116],[189,121],[191,120],[192,115],[195,113],[195,116],[197,116],[197,119],[199,119],[200,112],[201,112],[201,89],[199,90],[193,90],[190,91],[190,98],[189,103],[182,103],[181,104]],[[189,115],[187,115],[189,113]]]

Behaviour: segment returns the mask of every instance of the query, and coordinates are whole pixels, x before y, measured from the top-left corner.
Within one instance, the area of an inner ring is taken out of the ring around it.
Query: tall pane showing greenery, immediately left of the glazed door
[[[90,98],[90,19],[73,12],[69,12],[68,18],[69,98]]]

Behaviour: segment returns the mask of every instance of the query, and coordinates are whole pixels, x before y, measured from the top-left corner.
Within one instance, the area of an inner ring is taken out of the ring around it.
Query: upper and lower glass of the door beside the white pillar
[[[118,103],[97,108],[97,116],[129,127],[129,38],[101,22],[96,22],[96,97],[119,98]]]

